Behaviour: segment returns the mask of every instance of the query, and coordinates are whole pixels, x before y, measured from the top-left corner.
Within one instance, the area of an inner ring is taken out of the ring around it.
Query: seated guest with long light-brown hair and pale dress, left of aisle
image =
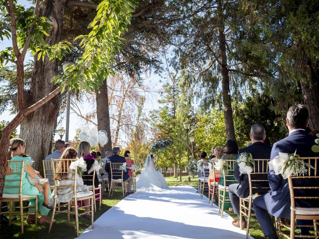
[[[68,147],[66,148],[61,156],[61,159],[75,159],[76,156],[78,155],[77,151],[75,148]],[[50,205],[53,205],[54,203],[54,196],[56,198],[56,204],[59,203],[68,203],[72,200],[74,197],[74,174],[72,173],[72,170],[69,169],[69,166],[71,164],[71,161],[60,161],[59,164],[56,167],[56,178],[57,184],[58,185],[63,185],[63,186],[69,186],[65,188],[59,188],[56,192],[52,192],[52,197],[50,198]],[[65,171],[68,171],[68,173],[65,173]],[[77,195],[81,193],[86,193],[89,192],[89,189],[84,185],[83,179],[77,174],[76,175],[76,191]],[[90,204],[90,199],[84,200],[84,205],[89,205]],[[88,212],[89,208],[85,208],[85,211]],[[84,218],[91,220],[91,217],[89,215],[84,215]]]

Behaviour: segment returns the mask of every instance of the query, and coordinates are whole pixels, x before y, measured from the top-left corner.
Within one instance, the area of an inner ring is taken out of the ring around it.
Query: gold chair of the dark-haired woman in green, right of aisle
[[[226,196],[228,192],[228,185],[236,183],[234,178],[234,169],[236,164],[236,159],[224,159],[228,164],[229,168],[227,172],[223,172],[224,185],[218,185],[218,212],[221,213],[220,216],[223,217],[225,203],[230,203],[229,196]],[[221,211],[221,212],[220,212]]]

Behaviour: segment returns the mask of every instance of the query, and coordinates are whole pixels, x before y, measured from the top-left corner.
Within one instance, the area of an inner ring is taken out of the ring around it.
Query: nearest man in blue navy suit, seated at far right
[[[287,112],[287,126],[289,129],[289,136],[276,142],[271,151],[271,160],[274,159],[279,152],[294,153],[301,157],[318,157],[319,154],[312,151],[312,146],[315,144],[315,137],[306,132],[306,127],[309,123],[309,113],[304,105],[294,105]],[[268,180],[270,192],[257,197],[254,200],[253,207],[255,215],[260,223],[265,237],[269,239],[278,239],[274,223],[271,215],[279,218],[290,218],[290,194],[288,187],[288,180],[283,179],[282,175],[276,175],[274,170],[268,172]],[[301,179],[296,182],[296,186],[301,185],[318,185],[318,180],[315,179]],[[318,190],[313,190],[312,193],[305,192],[300,189],[295,192],[296,196],[311,196],[314,194],[318,196]],[[296,201],[297,207],[319,207],[317,200],[300,199]],[[298,222],[300,224],[300,222]],[[305,234],[305,229],[302,228],[302,234]]]

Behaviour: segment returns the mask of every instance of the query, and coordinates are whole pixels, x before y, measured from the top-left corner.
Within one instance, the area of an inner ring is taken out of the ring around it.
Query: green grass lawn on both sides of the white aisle
[[[184,179],[186,176],[182,176],[182,183],[180,183],[179,178],[176,179],[172,176],[165,177],[165,180],[169,186],[180,186],[180,185],[190,185],[192,187],[197,187],[197,179],[191,179],[190,182]],[[206,195],[207,196],[207,195]],[[97,210],[97,213],[94,215],[94,219],[98,219],[103,213],[117,204],[119,201],[123,199],[123,195],[120,192],[115,192],[114,195],[108,198],[107,195],[103,195],[102,207],[100,210]],[[208,203],[208,202],[207,202]],[[225,211],[228,213],[234,220],[237,220],[237,216],[233,213],[230,213],[228,210]],[[49,215],[50,216],[50,215]],[[24,234],[20,233],[20,222],[17,220],[10,227],[6,225],[2,225],[0,229],[0,239],[73,239],[76,237],[76,228],[75,228],[75,220],[73,218],[70,219],[70,225],[67,226],[67,217],[64,214],[60,214],[55,216],[56,222],[53,224],[52,231],[48,234],[49,226],[38,224],[37,227],[35,225],[27,225],[24,221]],[[213,223],[213,222],[212,222]],[[80,218],[79,219],[79,228],[80,233],[83,232],[86,228],[90,226],[90,221]],[[255,239],[264,239],[264,235],[260,229],[260,225],[256,218],[252,218],[251,226],[250,226],[250,235]]]

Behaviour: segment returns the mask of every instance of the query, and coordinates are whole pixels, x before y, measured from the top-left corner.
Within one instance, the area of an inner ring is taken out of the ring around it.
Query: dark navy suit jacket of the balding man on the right
[[[271,153],[271,146],[268,146],[264,144],[263,142],[255,142],[251,144],[248,147],[242,148],[239,150],[239,153],[251,153],[252,157],[254,159],[270,159],[270,153]],[[258,165],[256,165],[257,167]],[[262,165],[260,165],[261,167]],[[249,182],[248,182],[248,175],[247,174],[241,174],[239,172],[239,166],[236,164],[235,170],[234,170],[234,177],[236,179],[236,182],[239,183],[237,186],[237,192],[236,195],[240,198],[246,198],[249,196]],[[258,180],[267,180],[267,174],[265,175],[251,175],[252,179],[258,179]],[[254,183],[254,187],[260,186],[260,187],[268,187],[268,183],[265,182],[260,182],[260,183]],[[265,189],[255,189],[253,193],[258,193],[258,194],[264,194],[266,193],[267,190]]]

